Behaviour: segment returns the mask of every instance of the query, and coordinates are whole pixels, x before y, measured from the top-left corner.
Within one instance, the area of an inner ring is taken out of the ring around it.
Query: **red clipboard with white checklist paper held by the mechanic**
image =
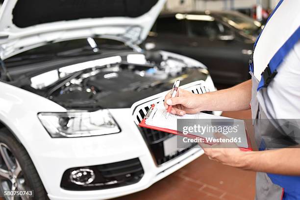
[[[240,141],[237,144],[239,146],[239,148],[242,151],[252,151],[250,138],[249,138],[248,132],[245,128],[245,124],[244,124],[243,120],[231,119],[228,117],[216,116],[216,115],[207,114],[207,113],[203,113],[203,112],[199,112],[196,114],[185,114],[184,116],[170,114],[169,117],[166,119],[166,114],[167,114],[167,111],[164,107],[163,101],[161,101],[157,104],[153,104],[151,106],[150,110],[147,112],[144,119],[140,122],[139,126],[148,128],[148,129],[166,132],[166,133],[181,135],[181,136],[193,138],[193,139],[203,138],[204,140],[202,140],[202,141],[204,143],[212,145],[214,143],[210,142],[208,138],[213,137],[213,133],[201,133],[201,134],[199,134],[199,133],[198,134],[183,133],[181,131],[177,131],[177,128],[180,127],[179,125],[177,126],[177,122],[186,120],[186,122],[188,122],[188,124],[194,124],[194,123],[199,124],[199,121],[201,121],[201,122],[204,121],[205,123],[208,122],[213,125],[214,122],[216,122],[215,124],[222,124],[222,121],[234,120],[235,122],[237,122],[237,124],[238,124],[237,126],[239,126],[239,131],[238,131],[238,133],[230,133],[230,134],[227,134],[226,136],[228,138],[238,136],[240,138]],[[224,126],[220,126],[220,127],[224,127]],[[208,126],[206,128],[208,128]],[[179,130],[182,130],[182,129],[179,128]]]

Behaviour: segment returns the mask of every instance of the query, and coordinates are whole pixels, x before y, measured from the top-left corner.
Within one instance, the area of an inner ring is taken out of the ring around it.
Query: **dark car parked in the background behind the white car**
[[[197,59],[212,79],[237,84],[249,78],[248,62],[260,22],[234,11],[161,14],[144,43]]]

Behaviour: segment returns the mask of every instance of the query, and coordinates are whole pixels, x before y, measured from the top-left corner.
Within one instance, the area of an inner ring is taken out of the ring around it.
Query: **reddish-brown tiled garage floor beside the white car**
[[[250,119],[250,111],[224,112]],[[200,156],[150,188],[114,200],[253,200],[255,173],[224,166]]]

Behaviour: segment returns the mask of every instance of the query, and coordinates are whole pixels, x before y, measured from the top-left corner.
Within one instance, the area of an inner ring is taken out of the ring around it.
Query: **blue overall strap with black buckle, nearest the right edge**
[[[300,40],[300,26],[290,36],[290,38],[278,49],[278,51],[270,60],[268,66],[261,73],[261,79],[258,84],[257,91],[261,88],[266,88],[269,86],[269,84],[277,74],[276,69],[280,66],[284,57],[291,51],[291,49],[299,40]]]

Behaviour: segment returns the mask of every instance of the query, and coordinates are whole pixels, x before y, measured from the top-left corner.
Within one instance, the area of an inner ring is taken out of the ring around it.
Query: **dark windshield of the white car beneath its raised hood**
[[[129,50],[129,46],[116,40],[103,38],[85,38],[39,46],[4,60],[7,68],[21,64],[33,64],[57,58],[97,55],[109,50]]]

